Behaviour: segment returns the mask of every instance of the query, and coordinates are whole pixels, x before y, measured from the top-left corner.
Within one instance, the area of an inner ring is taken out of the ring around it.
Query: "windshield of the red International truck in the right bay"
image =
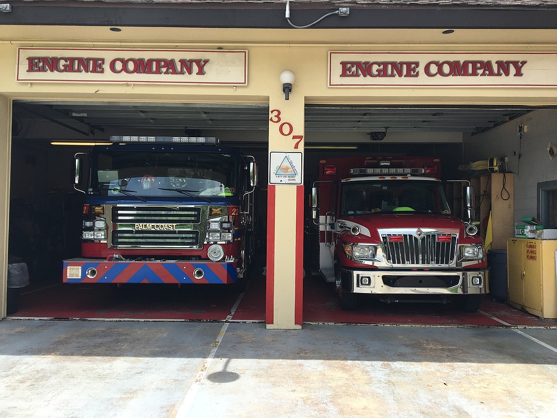
[[[381,213],[451,215],[440,182],[361,180],[342,184],[340,216]]]

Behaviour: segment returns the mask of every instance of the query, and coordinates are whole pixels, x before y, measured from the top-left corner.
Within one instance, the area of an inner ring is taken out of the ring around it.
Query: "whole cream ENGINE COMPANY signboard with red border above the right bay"
[[[557,86],[557,54],[329,52],[329,87]]]

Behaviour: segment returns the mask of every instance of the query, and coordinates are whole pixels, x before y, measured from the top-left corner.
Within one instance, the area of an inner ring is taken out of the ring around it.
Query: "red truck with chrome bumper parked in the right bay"
[[[343,309],[358,295],[384,302],[453,302],[465,312],[487,293],[487,260],[465,191],[467,220],[453,215],[438,159],[338,157],[320,161],[311,195],[318,263]]]

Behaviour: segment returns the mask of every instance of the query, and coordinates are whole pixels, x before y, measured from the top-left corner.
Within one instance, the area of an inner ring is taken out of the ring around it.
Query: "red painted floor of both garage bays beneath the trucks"
[[[265,321],[265,276],[257,275],[231,317],[239,290],[226,286],[42,284],[21,289],[18,311],[9,318]],[[480,311],[462,313],[451,304],[385,304],[360,300],[355,311],[340,309],[334,284],[316,276],[304,281],[305,323],[444,326],[557,327],[504,303],[483,300]]]

